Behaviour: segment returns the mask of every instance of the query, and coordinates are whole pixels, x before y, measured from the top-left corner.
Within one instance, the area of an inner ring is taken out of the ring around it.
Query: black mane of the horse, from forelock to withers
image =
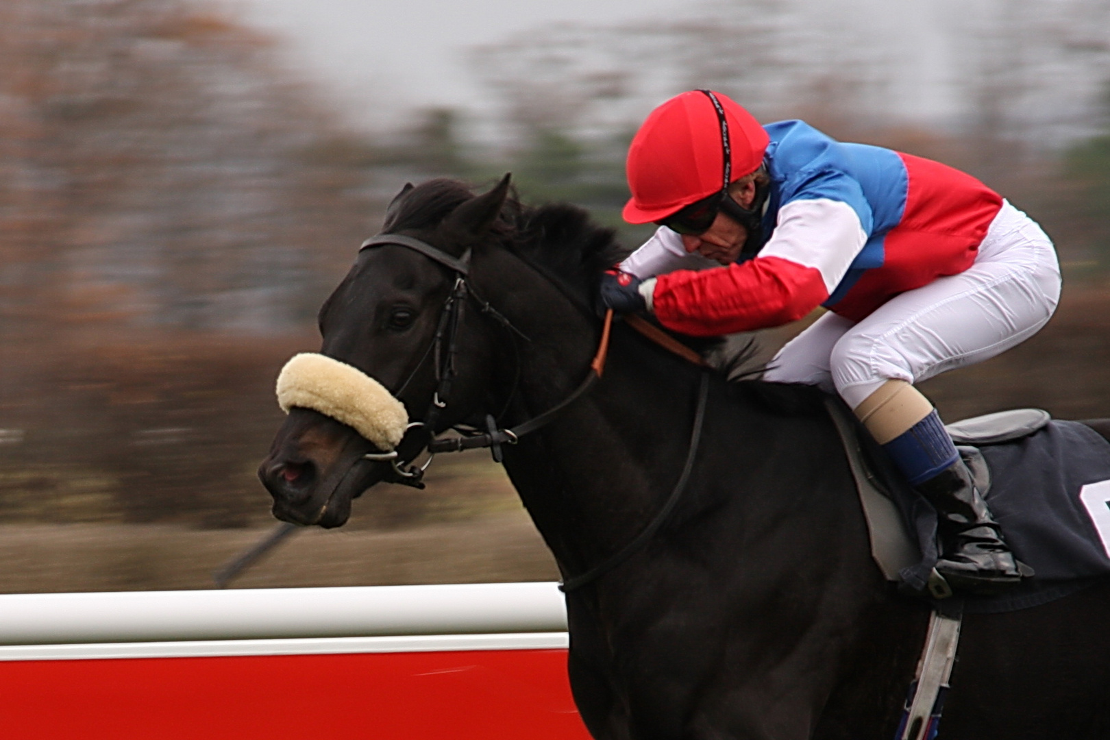
[[[386,212],[383,232],[434,227],[452,211],[474,197],[470,185],[445,178],[430,180],[402,191]],[[519,257],[539,270],[581,306],[593,306],[602,273],[620,262],[628,250],[616,239],[616,230],[593,223],[589,214],[568,203],[529,206],[511,191],[492,227],[493,235]],[[764,406],[788,414],[820,408],[820,392],[810,386],[764,383],[764,369],[754,356],[755,339],[727,342],[723,337],[675,335],[710,363],[731,383],[734,392]]]

